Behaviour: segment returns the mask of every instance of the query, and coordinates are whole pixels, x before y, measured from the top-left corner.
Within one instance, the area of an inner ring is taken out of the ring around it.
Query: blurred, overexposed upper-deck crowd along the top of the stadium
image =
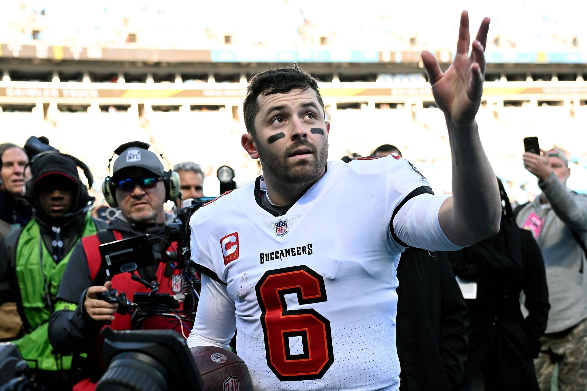
[[[492,15],[484,4],[460,0],[448,2],[436,12],[420,12],[410,2],[382,4],[375,0],[364,1],[360,7],[307,0],[257,0],[249,7],[232,0],[222,3],[222,8],[234,12],[218,12],[214,2],[109,0],[81,8],[69,1],[20,0],[2,5],[0,36],[2,43],[59,46],[451,50],[446,42],[452,42],[456,29],[439,34],[431,26],[438,19],[453,16],[454,9],[468,8],[471,15],[484,12],[491,16],[487,42],[491,52],[576,51],[587,39],[579,28],[587,11],[582,2],[552,7],[541,2],[500,0],[492,6],[508,12]],[[265,23],[250,23],[259,7],[274,10],[279,33],[266,34]],[[404,18],[414,13],[417,19]],[[533,28],[519,29],[519,18]]]

